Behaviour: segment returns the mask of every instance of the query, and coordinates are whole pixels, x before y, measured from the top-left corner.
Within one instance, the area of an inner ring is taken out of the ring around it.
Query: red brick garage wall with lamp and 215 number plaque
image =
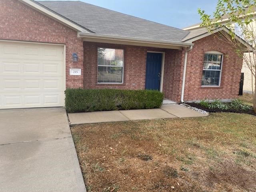
[[[0,0],[0,39],[66,44],[66,87],[83,87],[83,76],[70,76],[70,68],[83,72],[83,41],[77,32],[17,0]],[[78,62],[72,62],[76,52]]]

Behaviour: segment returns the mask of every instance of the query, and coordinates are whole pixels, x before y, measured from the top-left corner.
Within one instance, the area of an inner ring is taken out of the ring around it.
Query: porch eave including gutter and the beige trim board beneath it
[[[186,43],[186,42],[152,40],[152,39],[146,39],[146,38],[133,38],[133,37],[125,37],[125,36],[106,35],[106,34],[89,34],[85,32],[79,32],[78,36],[84,38],[84,41],[88,41],[88,42],[148,46],[148,47],[168,48],[168,49],[181,49],[182,47],[190,47],[194,45],[193,43]]]

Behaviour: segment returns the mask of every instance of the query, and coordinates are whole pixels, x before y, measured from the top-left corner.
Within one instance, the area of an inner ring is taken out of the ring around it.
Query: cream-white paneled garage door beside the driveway
[[[64,46],[0,41],[0,108],[64,106]]]

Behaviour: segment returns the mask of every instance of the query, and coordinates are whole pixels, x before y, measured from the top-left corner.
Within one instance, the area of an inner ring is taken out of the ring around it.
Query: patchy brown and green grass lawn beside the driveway
[[[142,120],[72,127],[89,192],[256,191],[256,117]]]

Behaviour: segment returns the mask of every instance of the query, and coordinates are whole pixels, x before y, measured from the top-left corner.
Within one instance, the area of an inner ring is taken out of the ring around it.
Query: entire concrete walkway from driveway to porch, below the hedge
[[[162,118],[206,117],[206,115],[178,104],[162,105],[160,109],[97,111],[69,113],[70,124],[117,122]]]

